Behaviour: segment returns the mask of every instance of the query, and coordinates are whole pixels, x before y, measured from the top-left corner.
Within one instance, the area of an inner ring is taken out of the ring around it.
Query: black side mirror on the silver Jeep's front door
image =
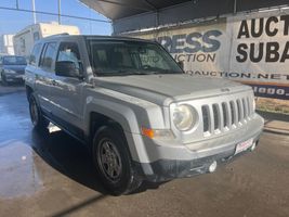
[[[80,77],[79,68],[70,61],[60,61],[55,63],[55,75],[64,77]]]

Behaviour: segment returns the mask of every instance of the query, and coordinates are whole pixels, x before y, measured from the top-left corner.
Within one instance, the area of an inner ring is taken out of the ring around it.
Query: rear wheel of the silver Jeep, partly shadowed
[[[31,123],[37,130],[45,130],[48,128],[49,122],[41,114],[34,93],[29,94],[29,113]]]

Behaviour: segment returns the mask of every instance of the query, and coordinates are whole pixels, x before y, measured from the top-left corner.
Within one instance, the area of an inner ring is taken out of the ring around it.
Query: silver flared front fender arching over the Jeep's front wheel
[[[135,137],[142,137],[142,126],[158,126],[163,128],[165,122],[161,108],[150,102],[133,98],[120,92],[102,89],[87,94],[84,107],[84,132],[90,133],[91,114],[102,114],[118,123],[128,141],[129,150],[133,161],[147,162],[147,149],[142,140],[135,141]],[[158,118],[149,117],[149,113],[158,114]],[[161,120],[160,120],[161,119]]]

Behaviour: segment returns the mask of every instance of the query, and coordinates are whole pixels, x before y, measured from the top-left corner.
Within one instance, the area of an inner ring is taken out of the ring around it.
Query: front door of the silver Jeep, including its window
[[[82,71],[79,47],[76,42],[61,42],[56,62],[73,62],[79,72]],[[66,77],[53,75],[51,97],[53,102],[53,116],[70,132],[76,136],[82,133],[83,102],[82,90],[84,81],[79,76]]]

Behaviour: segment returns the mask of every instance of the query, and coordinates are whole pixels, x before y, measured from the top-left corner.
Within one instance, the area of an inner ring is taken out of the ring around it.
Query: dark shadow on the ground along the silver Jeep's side
[[[52,126],[55,128],[54,126]],[[32,150],[54,169],[95,191],[105,193],[87,146],[62,130],[32,130]]]

